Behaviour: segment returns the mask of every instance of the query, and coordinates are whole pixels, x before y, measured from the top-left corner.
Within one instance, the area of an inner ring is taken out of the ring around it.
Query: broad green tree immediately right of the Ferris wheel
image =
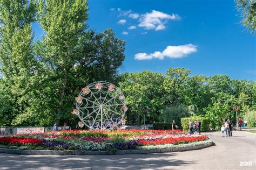
[[[147,108],[147,123],[158,121],[165,103],[163,75],[143,71],[125,73],[120,79],[119,87],[129,107],[127,120],[130,123],[137,123],[138,116],[142,116],[142,109]]]

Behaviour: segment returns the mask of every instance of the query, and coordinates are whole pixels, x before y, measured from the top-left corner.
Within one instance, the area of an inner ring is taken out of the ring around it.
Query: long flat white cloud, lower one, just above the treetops
[[[180,46],[167,46],[163,52],[156,51],[151,54],[137,53],[135,54],[136,60],[151,60],[153,58],[163,60],[165,57],[171,59],[183,58],[187,54],[197,52],[197,46],[193,44],[186,44]]]

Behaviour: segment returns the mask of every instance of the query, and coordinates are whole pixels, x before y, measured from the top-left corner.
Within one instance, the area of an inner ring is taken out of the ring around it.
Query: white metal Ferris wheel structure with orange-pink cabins
[[[104,130],[119,126],[126,111],[122,91],[112,83],[98,81],[80,91],[72,114],[88,128]]]

